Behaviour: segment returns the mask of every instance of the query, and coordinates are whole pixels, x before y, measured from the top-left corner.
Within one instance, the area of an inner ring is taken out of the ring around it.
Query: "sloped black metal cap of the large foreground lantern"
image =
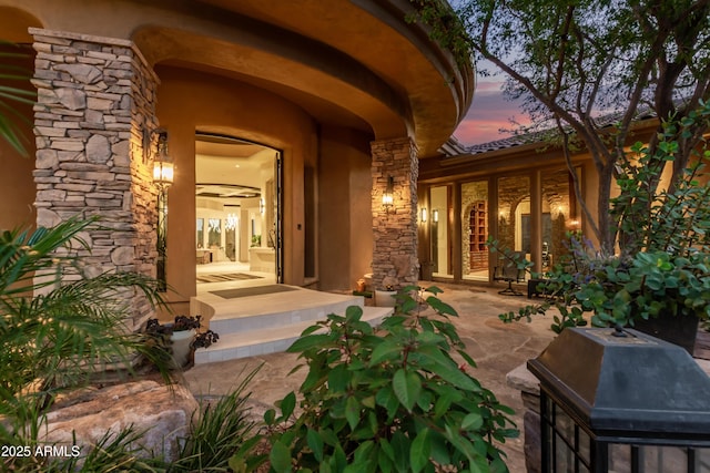
[[[567,328],[528,369],[597,435],[710,432],[710,378],[682,348],[637,330]]]

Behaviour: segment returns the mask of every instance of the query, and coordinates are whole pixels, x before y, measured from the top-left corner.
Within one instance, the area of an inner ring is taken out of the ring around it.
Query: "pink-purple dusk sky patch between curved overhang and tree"
[[[511,128],[510,119],[523,121],[525,115],[515,102],[503,99],[503,78],[478,78],[474,102],[464,121],[454,132],[463,145],[488,143],[510,136],[500,128]]]

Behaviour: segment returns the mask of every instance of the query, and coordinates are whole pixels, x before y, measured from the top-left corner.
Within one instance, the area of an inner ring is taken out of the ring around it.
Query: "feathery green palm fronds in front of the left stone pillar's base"
[[[130,371],[141,353],[169,378],[161,348],[124,323],[136,295],[164,305],[161,284],[132,273],[88,278],[81,271],[77,249],[89,249],[81,234],[100,228],[97,218],[74,217],[0,235],[0,363],[12,367],[0,370],[0,415],[30,439],[59,391],[106,367]],[[68,269],[79,279],[63,280]]]

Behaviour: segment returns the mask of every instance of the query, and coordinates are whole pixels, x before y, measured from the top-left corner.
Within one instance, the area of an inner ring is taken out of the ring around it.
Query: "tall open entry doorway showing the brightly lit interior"
[[[283,282],[281,152],[195,135],[196,285]]]

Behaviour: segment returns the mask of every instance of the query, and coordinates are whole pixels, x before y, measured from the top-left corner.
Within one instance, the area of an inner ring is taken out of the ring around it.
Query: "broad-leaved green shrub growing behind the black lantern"
[[[693,163],[672,189],[651,189],[653,169],[671,162],[676,136],[689,133],[694,120],[710,114],[710,104],[681,123],[668,123],[651,154],[638,142],[630,148],[635,164],[621,168],[621,189],[611,199],[610,215],[621,226],[621,251],[608,255],[579,234],[569,234],[569,254],[544,275],[538,289],[548,296],[540,305],[500,316],[504,321],[530,319],[555,307],[552,330],[587,323],[635,325],[666,315],[710,319],[710,162],[708,142],[693,150]],[[628,177],[633,175],[635,177]],[[493,250],[501,249],[489,241]],[[506,251],[509,255],[510,251]],[[539,277],[534,275],[535,278]],[[589,318],[589,317],[588,317]]]

